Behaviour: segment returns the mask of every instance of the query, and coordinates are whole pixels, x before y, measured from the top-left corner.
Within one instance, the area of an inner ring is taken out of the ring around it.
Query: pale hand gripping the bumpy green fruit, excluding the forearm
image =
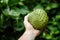
[[[38,36],[40,34],[40,31],[34,29],[33,26],[28,22],[28,16],[29,15],[26,15],[24,18],[24,25],[25,25],[26,31],[28,31],[29,33],[33,33],[33,35],[35,36]]]

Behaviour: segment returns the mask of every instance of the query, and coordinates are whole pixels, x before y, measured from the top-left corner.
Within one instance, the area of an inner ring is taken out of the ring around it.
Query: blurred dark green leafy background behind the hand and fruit
[[[0,0],[0,40],[18,40],[24,33],[24,16],[33,9],[44,9],[49,22],[35,40],[60,40],[59,0]]]

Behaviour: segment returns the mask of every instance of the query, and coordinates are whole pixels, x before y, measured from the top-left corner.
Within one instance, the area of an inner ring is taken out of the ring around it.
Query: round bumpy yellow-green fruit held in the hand
[[[43,9],[36,9],[29,13],[28,20],[33,28],[42,30],[46,27],[48,22],[47,13]]]

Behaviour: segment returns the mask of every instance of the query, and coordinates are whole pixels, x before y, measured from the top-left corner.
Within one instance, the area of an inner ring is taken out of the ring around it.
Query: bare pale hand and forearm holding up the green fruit
[[[33,28],[28,22],[28,15],[24,17],[25,32],[18,40],[34,40],[36,36],[40,34],[39,30]]]

